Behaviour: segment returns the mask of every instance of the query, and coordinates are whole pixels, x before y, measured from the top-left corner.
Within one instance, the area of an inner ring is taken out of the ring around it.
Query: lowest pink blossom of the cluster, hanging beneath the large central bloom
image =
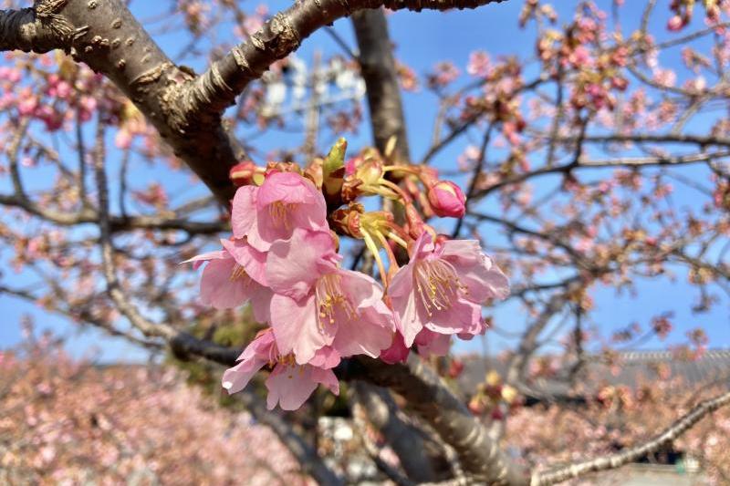
[[[308,365],[299,366],[292,355],[279,353],[274,333],[266,329],[246,346],[238,361],[235,367],[225,370],[223,388],[229,394],[241,391],[262,367],[273,367],[266,378],[269,409],[278,403],[285,410],[296,410],[320,383],[339,395],[339,381],[332,372],[339,364],[339,355],[332,348],[318,349]]]

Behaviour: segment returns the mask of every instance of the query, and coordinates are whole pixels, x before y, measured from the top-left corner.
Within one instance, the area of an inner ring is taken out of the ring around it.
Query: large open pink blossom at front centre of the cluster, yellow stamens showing
[[[378,357],[391,346],[395,329],[380,284],[338,267],[329,233],[296,229],[290,240],[271,246],[266,280],[275,292],[271,326],[276,344],[308,363],[317,350],[334,347],[340,356]]]

